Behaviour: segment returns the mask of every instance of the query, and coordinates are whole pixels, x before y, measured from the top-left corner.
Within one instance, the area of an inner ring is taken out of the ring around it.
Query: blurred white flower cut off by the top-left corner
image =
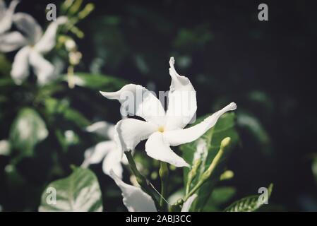
[[[19,1],[13,0],[8,8],[6,8],[6,3],[3,0],[0,0],[0,35],[10,30],[13,13],[18,3]]]

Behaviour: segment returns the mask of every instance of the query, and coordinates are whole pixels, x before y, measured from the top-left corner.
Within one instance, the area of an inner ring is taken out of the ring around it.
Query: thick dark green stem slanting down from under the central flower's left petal
[[[155,202],[155,206],[160,206],[155,196],[155,193],[152,191],[152,188],[148,183],[147,179],[138,171],[138,168],[136,167],[136,162],[134,162],[133,157],[131,155],[131,151],[126,151],[124,152],[124,154],[128,159],[128,164],[130,165],[133,174],[136,176],[138,184],[140,184],[143,190],[152,197],[153,201]]]

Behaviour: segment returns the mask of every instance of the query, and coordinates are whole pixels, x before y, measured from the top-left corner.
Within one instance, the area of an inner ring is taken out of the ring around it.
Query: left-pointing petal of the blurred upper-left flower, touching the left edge
[[[20,32],[13,31],[0,35],[0,52],[11,52],[27,44]]]

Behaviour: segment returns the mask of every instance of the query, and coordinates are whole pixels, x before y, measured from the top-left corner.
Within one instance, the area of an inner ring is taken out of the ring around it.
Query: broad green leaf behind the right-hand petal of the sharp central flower
[[[196,124],[203,121],[203,119],[205,119],[205,117],[197,119]],[[237,130],[235,129],[235,124],[236,122],[234,112],[226,113],[222,115],[222,117],[220,117],[220,119],[217,121],[217,124],[215,124],[215,126],[207,131],[203,136],[201,136],[201,138],[198,138],[198,140],[193,141],[192,143],[181,145],[184,160],[189,162],[189,164],[193,165],[195,160],[194,156],[201,157],[202,164],[199,167],[198,175],[196,176],[196,179],[193,180],[192,184],[196,184],[198,182],[198,179],[201,177],[203,172],[205,172],[211,162],[213,162],[215,155],[217,155],[217,152],[220,149],[220,143],[222,139],[226,137],[231,138],[230,148],[237,144],[239,136]],[[202,210],[203,206],[205,206],[205,203],[208,201],[208,198],[212,193],[216,182],[219,181],[220,175],[225,171],[225,160],[227,160],[228,154],[228,152],[224,153],[220,159],[220,164],[217,165],[215,169],[213,177],[210,178],[208,182],[205,182],[205,184],[201,186],[201,189],[199,189],[198,198],[196,198],[194,204],[196,210]],[[184,169],[185,185],[187,183],[188,172],[188,168]]]

